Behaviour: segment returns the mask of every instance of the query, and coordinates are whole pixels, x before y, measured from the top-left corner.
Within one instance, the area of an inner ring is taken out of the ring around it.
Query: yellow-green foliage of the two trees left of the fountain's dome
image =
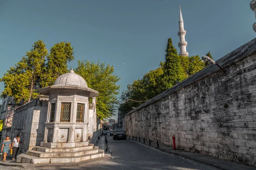
[[[70,42],[56,43],[48,55],[45,43],[38,40],[0,79],[4,82],[1,97],[12,96],[17,103],[30,102],[38,96],[37,88],[52,85],[60,74],[67,73],[67,62],[72,59]]]

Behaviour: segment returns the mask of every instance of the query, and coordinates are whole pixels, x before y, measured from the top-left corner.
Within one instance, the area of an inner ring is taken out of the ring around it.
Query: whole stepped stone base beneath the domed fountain
[[[26,154],[17,156],[18,163],[76,163],[89,159],[104,157],[104,150],[86,142],[50,143],[41,142],[41,146],[27,150]]]

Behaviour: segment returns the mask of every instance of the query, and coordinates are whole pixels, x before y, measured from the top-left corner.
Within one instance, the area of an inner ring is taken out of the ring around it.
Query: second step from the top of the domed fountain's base
[[[89,144],[88,146],[82,146],[82,147],[65,147],[65,148],[58,148],[58,147],[41,147],[36,146],[33,148],[33,150],[40,151],[40,152],[76,152],[79,150],[90,150],[93,148],[99,148],[98,146],[94,146],[93,144]]]

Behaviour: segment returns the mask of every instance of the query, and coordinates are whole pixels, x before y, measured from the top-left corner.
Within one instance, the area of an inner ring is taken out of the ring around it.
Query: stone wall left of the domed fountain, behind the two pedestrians
[[[7,133],[9,133],[12,140],[17,134],[20,134],[22,140],[21,153],[40,145],[40,142],[44,140],[47,106],[48,97],[39,97],[15,109],[12,128]]]

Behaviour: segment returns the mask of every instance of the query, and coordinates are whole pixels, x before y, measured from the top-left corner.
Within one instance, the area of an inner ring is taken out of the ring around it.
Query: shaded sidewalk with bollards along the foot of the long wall
[[[129,138],[127,138],[127,139],[129,139]],[[166,153],[170,153],[170,154],[177,155],[177,156],[183,156],[185,158],[192,159],[192,160],[204,163],[204,164],[209,164],[209,165],[212,165],[213,167],[218,167],[222,170],[256,170],[256,168],[249,167],[249,166],[246,166],[243,164],[226,161],[224,159],[213,158],[211,156],[201,155],[199,153],[193,153],[193,152],[189,152],[186,150],[174,150],[172,147],[167,147],[167,146],[163,146],[160,144],[159,144],[159,147],[157,147],[157,144],[152,143],[152,142],[151,142],[151,145],[149,145],[149,141],[145,141],[145,143],[143,143],[143,139],[140,139],[140,142],[139,142],[139,138],[137,138],[137,141],[135,138],[133,140],[132,137],[129,140],[138,142],[141,144],[145,144],[149,147],[154,147],[154,148],[156,148],[158,150],[162,150],[163,152],[166,152]]]

